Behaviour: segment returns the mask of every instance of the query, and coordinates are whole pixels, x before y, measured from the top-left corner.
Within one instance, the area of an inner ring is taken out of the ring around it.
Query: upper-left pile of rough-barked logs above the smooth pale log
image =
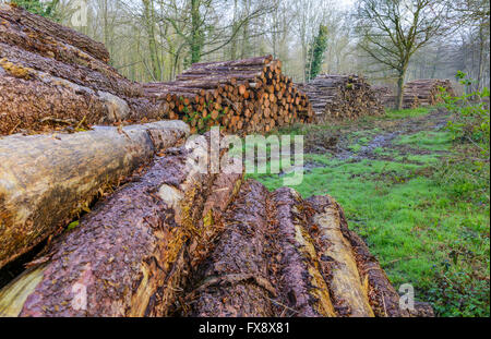
[[[0,135],[159,118],[108,60],[103,44],[0,3]]]

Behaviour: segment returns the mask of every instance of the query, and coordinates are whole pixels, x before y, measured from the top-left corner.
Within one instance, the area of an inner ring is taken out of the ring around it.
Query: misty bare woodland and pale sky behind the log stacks
[[[170,81],[193,62],[267,53],[297,82],[357,73],[396,88],[400,78],[454,78],[460,70],[482,87],[490,76],[483,0],[16,2],[104,43],[111,65],[134,81]]]

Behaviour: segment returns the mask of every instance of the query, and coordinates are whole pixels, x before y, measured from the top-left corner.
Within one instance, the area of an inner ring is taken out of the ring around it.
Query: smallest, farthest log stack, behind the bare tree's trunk
[[[439,78],[419,78],[407,82],[403,92],[403,108],[418,108],[420,106],[433,106],[442,101],[441,90],[444,88],[446,94],[455,96],[450,80]],[[387,86],[376,86],[374,88],[385,107],[394,108],[396,106],[397,96],[395,92]]]

